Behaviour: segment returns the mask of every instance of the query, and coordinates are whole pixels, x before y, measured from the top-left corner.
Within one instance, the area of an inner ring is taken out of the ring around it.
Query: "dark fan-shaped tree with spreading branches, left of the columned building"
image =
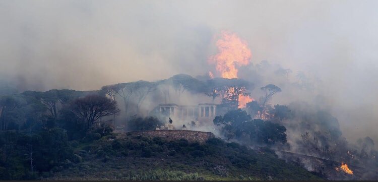
[[[100,118],[119,112],[117,102],[100,95],[78,98],[70,104],[70,111],[90,129]]]

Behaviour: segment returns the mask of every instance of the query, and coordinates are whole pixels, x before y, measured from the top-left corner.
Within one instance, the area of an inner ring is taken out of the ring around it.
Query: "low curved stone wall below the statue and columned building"
[[[161,137],[165,140],[179,140],[186,139],[189,142],[204,143],[206,140],[213,138],[214,134],[211,132],[200,132],[192,130],[151,130],[151,131],[135,131],[126,133],[128,136],[144,136],[144,137]]]

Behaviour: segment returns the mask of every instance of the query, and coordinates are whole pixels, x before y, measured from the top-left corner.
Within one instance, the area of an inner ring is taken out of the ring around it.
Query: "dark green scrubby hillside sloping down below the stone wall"
[[[48,179],[321,179],[285,163],[270,150],[256,152],[218,139],[200,145],[184,140],[116,137],[78,146],[82,162],[53,172]],[[216,174],[214,167],[218,165],[224,166],[228,175]]]

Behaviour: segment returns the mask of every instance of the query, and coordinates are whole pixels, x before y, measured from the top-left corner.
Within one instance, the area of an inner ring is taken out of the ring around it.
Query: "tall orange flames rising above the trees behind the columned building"
[[[236,66],[248,65],[252,56],[247,43],[241,40],[235,33],[222,31],[216,45],[219,53],[210,57],[209,62],[216,64],[216,70],[221,73],[223,78],[238,78]],[[239,95],[238,100],[238,107],[242,108],[246,106],[247,102],[253,101],[253,98]]]

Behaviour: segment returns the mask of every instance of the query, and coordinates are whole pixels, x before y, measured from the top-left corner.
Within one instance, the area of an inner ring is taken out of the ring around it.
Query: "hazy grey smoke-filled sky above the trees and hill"
[[[268,60],[293,75],[302,71],[322,80],[318,89],[350,136],[374,135],[377,5],[346,0],[2,0],[0,80],[21,90],[97,90],[180,73],[203,75],[214,70],[208,64],[216,51],[214,37],[228,30],[248,43],[251,64]]]

